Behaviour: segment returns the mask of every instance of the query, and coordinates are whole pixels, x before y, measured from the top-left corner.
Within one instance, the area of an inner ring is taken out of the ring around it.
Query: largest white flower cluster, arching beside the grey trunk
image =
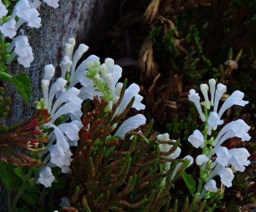
[[[109,109],[111,109],[113,103],[119,100],[122,88],[122,83],[118,83],[122,75],[122,68],[114,65],[114,61],[111,58],[107,58],[105,63],[101,65],[99,57],[91,55],[76,68],[79,59],[87,52],[88,46],[80,44],[73,54],[75,44],[74,38],[70,38],[68,43],[65,44],[66,55],[60,63],[61,77],[52,83],[50,89],[50,81],[55,74],[55,68],[52,64],[45,66],[44,79],[41,81],[44,98],[38,102],[37,108],[44,107],[48,109],[52,120],[45,124],[45,127],[54,129],[49,134],[50,140],[47,144],[47,151],[41,154],[41,157],[47,154],[44,159],[44,162],[47,163],[46,167],[41,169],[38,179],[44,186],[51,186],[51,183],[54,181],[54,176],[47,178],[47,176],[52,176],[49,167],[58,166],[63,173],[71,171],[69,168],[72,161],[70,146],[78,145],[78,133],[83,126],[80,119],[83,100],[92,100],[95,95],[106,97],[109,98]],[[94,73],[94,76],[97,76],[92,79],[88,76],[88,72]],[[69,74],[66,76],[67,73]],[[70,80],[69,83],[67,83],[66,78]],[[82,86],[80,86],[81,89],[74,87],[78,83]],[[104,90],[101,90],[101,87],[99,87],[102,85],[105,85]],[[110,92],[106,94],[106,90]],[[145,109],[145,105],[141,103],[143,97],[138,94],[139,91],[140,88],[137,84],[131,84],[125,90],[124,97],[116,110],[116,114],[120,114],[125,110],[132,97],[135,97],[132,107],[137,110]],[[56,120],[59,123],[60,117],[63,117],[62,123],[56,124]],[[146,118],[141,114],[130,117],[119,126],[115,135],[124,137],[125,133],[145,124],[145,122]],[[116,125],[113,127],[116,127]]]

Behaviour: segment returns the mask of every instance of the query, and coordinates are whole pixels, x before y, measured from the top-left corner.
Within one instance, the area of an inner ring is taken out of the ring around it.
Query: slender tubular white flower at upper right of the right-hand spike
[[[244,93],[241,91],[234,91],[230,97],[223,103],[221,109],[218,112],[218,116],[221,117],[223,113],[233,105],[245,106],[248,104],[248,101],[242,100],[244,98]]]

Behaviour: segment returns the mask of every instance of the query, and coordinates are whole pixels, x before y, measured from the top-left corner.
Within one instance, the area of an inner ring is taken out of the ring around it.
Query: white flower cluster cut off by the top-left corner
[[[44,0],[49,6],[54,8],[58,7],[59,0]],[[39,17],[38,7],[41,5],[39,0],[19,0],[12,11],[11,16],[6,17],[5,23],[1,23],[0,32],[2,33],[1,39],[5,37],[13,38],[17,34],[17,30],[23,23],[28,23],[28,26],[39,28],[41,26],[41,17]],[[8,14],[6,6],[0,0],[0,18]],[[16,17],[18,21],[16,22]],[[29,46],[26,36],[17,36],[8,48],[7,53],[11,52],[15,46],[15,50],[9,58],[10,63],[15,56],[18,56],[18,62],[25,68],[30,67],[30,63],[34,60],[32,48]]]

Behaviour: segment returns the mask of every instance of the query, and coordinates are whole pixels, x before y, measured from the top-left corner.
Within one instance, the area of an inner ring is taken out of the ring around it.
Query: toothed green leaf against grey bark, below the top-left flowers
[[[26,73],[21,73],[12,77],[12,82],[20,96],[28,104],[31,98],[31,83]]]

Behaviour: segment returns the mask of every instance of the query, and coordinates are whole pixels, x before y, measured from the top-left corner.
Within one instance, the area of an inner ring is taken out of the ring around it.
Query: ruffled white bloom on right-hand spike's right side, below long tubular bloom
[[[247,160],[247,158],[250,156],[248,150],[245,148],[234,148],[230,149],[229,153],[232,155],[229,163],[234,166],[236,171],[244,172],[244,166],[248,166],[250,164],[250,160]]]

